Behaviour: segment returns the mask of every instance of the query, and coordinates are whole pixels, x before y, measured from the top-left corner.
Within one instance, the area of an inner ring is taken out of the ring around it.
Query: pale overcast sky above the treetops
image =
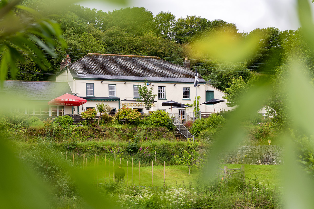
[[[211,21],[223,19],[235,23],[239,32],[250,32],[269,26],[280,30],[297,29],[299,21],[295,2],[296,0],[129,0],[127,5],[104,1],[85,1],[79,4],[104,12],[125,7],[144,7],[154,15],[169,11],[176,18],[195,15]],[[313,11],[312,3],[311,7]]]

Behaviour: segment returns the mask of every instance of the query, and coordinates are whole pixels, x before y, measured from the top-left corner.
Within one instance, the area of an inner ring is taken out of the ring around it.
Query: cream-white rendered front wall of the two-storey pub
[[[66,77],[68,77],[66,79]],[[103,80],[73,80],[71,73],[65,71],[61,75],[57,77],[56,81],[68,81],[69,86],[73,92],[73,94],[77,94],[78,97],[86,97],[86,83],[93,83],[94,84],[94,97],[109,97],[109,84],[116,85],[116,97],[120,97],[120,108],[125,105],[129,108],[143,108],[143,112],[148,112],[144,105],[141,102],[136,102],[137,98],[133,98],[133,86],[134,85],[144,85],[144,82],[138,81],[106,81]],[[126,84],[124,83],[126,82]],[[176,102],[180,102],[182,104],[192,104],[193,100],[196,96],[196,88],[194,87],[193,83],[162,83],[162,82],[153,82],[148,81],[150,83],[148,85],[149,88],[153,88],[155,97],[153,111],[158,109],[165,109],[166,112],[178,113],[179,109],[177,108],[170,108],[169,106],[162,106],[162,102],[166,102],[169,100],[173,100]],[[176,84],[176,85],[174,85]],[[165,86],[165,99],[158,99],[158,86]],[[183,99],[183,87],[190,88],[190,99]],[[215,99],[222,99],[222,96],[225,94],[224,92],[220,91],[219,89],[214,88],[210,85],[204,85],[199,83],[197,87],[197,95],[200,96],[199,103],[205,102],[205,91],[214,91],[214,98]],[[92,97],[91,97],[92,98]],[[119,109],[119,102],[118,101],[99,101],[104,102],[105,104],[109,104],[111,107],[115,107],[117,110]],[[96,103],[98,101],[87,101],[85,104],[79,106],[79,112],[86,110],[86,107],[96,107]],[[218,112],[220,109],[233,109],[227,107],[226,102],[221,102],[215,105],[215,111]],[[150,109],[151,111],[151,109]],[[200,105],[201,112],[214,112],[213,105]],[[193,108],[189,108],[186,112],[193,112]]]

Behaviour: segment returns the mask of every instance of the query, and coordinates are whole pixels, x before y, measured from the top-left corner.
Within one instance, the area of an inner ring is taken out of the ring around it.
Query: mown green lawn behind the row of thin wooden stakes
[[[220,164],[220,168],[241,168],[241,164]],[[268,184],[268,187],[280,187],[282,183],[281,178],[281,166],[280,165],[244,165],[245,167],[245,178],[246,181],[257,178],[260,182]],[[131,184],[131,166],[127,169],[123,167],[125,174],[125,182]],[[128,170],[128,174],[127,174]],[[103,183],[109,181],[109,172],[110,177],[113,177],[113,168],[111,166],[108,170],[106,169],[106,179],[105,179],[105,168],[100,166],[98,169],[98,181]],[[152,168],[151,166],[141,167],[140,168],[140,184],[141,186],[152,186]],[[165,179],[167,185],[181,185],[184,181],[184,184],[188,186],[189,182],[192,183],[192,186],[197,185],[197,180],[201,176],[201,171],[191,168],[191,175],[188,173],[188,167],[183,165],[171,165],[165,167]],[[133,184],[139,185],[139,176],[138,176],[138,164],[135,164],[133,167]],[[154,166],[154,186],[163,186],[164,185],[164,168],[163,166]]]

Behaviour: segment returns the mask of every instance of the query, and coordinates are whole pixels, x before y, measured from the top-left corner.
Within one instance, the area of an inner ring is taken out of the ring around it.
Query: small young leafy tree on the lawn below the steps
[[[175,155],[174,158],[176,160],[176,163],[187,165],[189,168],[189,175],[191,172],[191,166],[197,167],[199,162],[198,159],[198,148],[199,142],[196,139],[187,139],[187,149],[184,149],[183,152],[181,152],[182,158],[180,158],[178,155]]]

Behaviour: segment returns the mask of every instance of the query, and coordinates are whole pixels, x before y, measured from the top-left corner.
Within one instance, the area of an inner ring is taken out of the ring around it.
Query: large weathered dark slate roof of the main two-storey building
[[[92,54],[68,66],[74,79],[193,82],[195,71],[152,56]],[[83,74],[78,74],[82,71]],[[200,83],[204,79],[198,77]]]

